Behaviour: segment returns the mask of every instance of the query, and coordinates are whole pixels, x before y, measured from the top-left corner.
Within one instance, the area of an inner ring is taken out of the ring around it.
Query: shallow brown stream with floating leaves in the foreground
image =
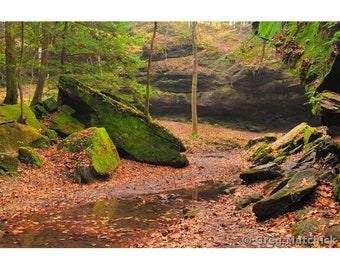
[[[216,199],[227,187],[227,183],[207,181],[190,189],[103,200],[32,215],[5,234],[0,247],[128,247],[138,237],[185,218],[184,209],[192,201]]]

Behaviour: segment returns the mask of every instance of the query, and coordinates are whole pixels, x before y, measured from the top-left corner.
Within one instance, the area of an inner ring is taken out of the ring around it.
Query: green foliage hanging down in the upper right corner
[[[282,28],[280,29],[280,24]],[[305,84],[309,103],[319,97],[315,90],[330,71],[340,41],[338,22],[261,22],[259,36],[275,41],[283,61]]]

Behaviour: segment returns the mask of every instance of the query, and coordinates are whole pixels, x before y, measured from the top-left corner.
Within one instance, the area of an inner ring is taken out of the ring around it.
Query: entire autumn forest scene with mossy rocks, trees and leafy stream
[[[339,248],[340,23],[0,22],[1,248]]]

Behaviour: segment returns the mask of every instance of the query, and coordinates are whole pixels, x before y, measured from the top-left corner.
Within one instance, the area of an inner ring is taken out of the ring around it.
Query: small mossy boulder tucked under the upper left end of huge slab
[[[67,105],[61,106],[60,111],[52,116],[49,128],[55,130],[63,138],[83,130],[85,125],[73,117],[73,113],[75,111],[71,107]]]

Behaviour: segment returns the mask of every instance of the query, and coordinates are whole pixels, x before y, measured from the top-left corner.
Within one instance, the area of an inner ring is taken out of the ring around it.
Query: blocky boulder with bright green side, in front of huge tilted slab
[[[120,158],[105,128],[88,128],[64,139],[60,147],[74,153],[75,177],[79,183],[107,179],[118,167]]]

